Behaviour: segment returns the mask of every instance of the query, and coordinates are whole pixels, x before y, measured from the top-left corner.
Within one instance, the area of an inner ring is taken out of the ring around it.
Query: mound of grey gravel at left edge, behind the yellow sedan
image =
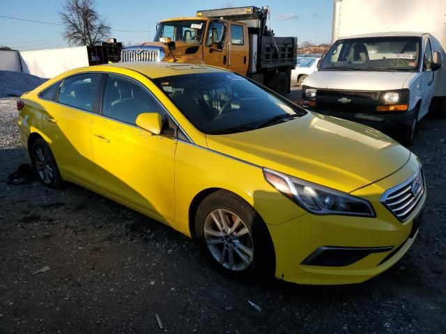
[[[17,97],[33,90],[47,79],[22,72],[0,71],[0,98]]]

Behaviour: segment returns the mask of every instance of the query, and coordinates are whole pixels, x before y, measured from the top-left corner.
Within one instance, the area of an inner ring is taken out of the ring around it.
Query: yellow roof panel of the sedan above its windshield
[[[215,73],[215,72],[228,72],[218,67],[200,65],[200,64],[187,64],[187,63],[171,63],[171,62],[134,62],[134,63],[111,63],[107,65],[98,65],[107,67],[121,67],[128,70],[134,70],[141,74],[146,75],[151,79],[157,79],[161,77],[172,77],[181,74],[194,74],[194,73]],[[91,66],[91,70],[94,70],[95,66]]]

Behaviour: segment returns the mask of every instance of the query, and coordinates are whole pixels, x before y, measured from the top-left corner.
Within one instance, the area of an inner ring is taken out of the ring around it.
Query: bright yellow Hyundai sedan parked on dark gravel
[[[17,109],[45,186],[74,182],[155,218],[230,276],[359,283],[397,262],[422,221],[414,154],[222,69],[84,67]]]

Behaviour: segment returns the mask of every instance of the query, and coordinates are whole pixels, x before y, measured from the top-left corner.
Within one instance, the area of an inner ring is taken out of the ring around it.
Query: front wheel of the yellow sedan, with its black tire
[[[236,194],[219,190],[206,197],[197,209],[195,235],[210,263],[226,275],[242,280],[274,276],[275,253],[268,228]]]

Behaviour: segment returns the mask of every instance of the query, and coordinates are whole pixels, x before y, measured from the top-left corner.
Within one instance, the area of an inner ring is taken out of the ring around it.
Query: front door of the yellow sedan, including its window
[[[160,113],[160,135],[136,125],[140,113]],[[91,148],[98,168],[98,188],[109,196],[174,221],[175,125],[150,91],[139,82],[109,74],[100,116],[91,125]]]

